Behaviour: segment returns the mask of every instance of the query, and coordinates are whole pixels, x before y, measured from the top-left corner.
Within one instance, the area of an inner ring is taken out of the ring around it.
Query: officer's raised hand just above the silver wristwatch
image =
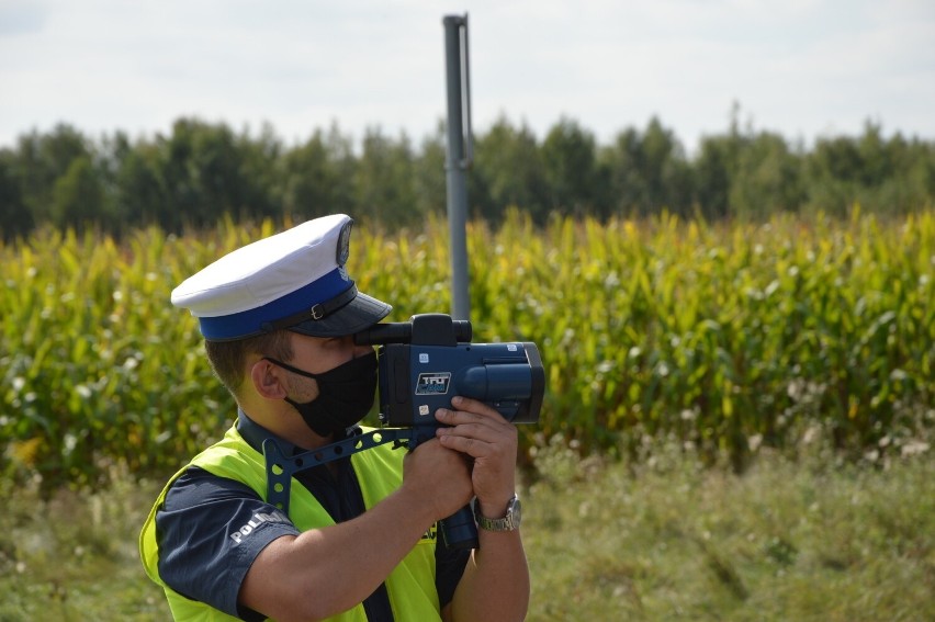
[[[474,459],[471,472],[474,495],[485,514],[506,511],[516,491],[516,426],[476,399],[455,397],[452,408],[439,408],[436,419],[446,426],[436,432],[446,448]]]

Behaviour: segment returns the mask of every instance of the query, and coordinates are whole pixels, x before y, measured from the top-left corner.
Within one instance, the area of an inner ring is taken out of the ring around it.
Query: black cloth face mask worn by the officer
[[[319,437],[343,431],[363,419],[376,393],[376,352],[351,359],[334,370],[313,374],[266,357],[266,360],[294,374],[318,383],[318,397],[300,404],[285,400],[298,410],[305,425]]]

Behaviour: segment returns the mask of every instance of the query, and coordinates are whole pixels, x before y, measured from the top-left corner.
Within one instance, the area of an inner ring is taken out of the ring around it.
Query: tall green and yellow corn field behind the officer
[[[48,486],[162,473],[223,433],[233,400],[184,278],[271,223],[114,240],[43,229],[0,246],[0,472]],[[523,457],[665,438],[742,467],[821,431],[845,455],[925,451],[935,423],[935,213],[709,225],[519,212],[467,231],[475,341],[534,341],[548,389]],[[350,274],[388,319],[450,309],[448,228],[358,227]]]

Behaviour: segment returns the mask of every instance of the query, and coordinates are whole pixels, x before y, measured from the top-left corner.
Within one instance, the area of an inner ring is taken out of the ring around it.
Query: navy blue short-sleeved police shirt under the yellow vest
[[[243,411],[237,429],[261,453],[263,440],[270,437],[286,453],[302,451]],[[335,522],[342,522],[360,516],[365,507],[350,457],[333,464],[334,474],[320,465],[296,474],[295,479],[315,495]],[[262,620],[262,615],[237,604],[240,584],[270,542],[298,533],[289,517],[246,484],[192,466],[172,484],[156,512],[159,576],[188,598],[243,620]],[[451,601],[469,557],[470,551],[450,551],[441,543],[436,546],[436,588],[442,608]],[[368,597],[363,607],[371,622],[393,620],[385,585]]]

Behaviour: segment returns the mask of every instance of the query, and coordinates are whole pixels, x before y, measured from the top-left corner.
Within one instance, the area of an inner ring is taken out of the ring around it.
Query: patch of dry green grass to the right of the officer
[[[540,456],[554,475],[527,493],[530,620],[935,619],[931,453],[762,454],[743,475],[679,453]]]

